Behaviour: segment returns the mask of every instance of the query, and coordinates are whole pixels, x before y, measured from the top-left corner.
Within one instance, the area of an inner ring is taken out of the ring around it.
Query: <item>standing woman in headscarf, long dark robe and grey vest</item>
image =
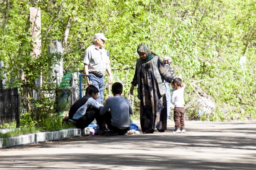
[[[143,133],[159,132],[167,129],[166,86],[164,80],[171,82],[174,77],[164,63],[145,44],[140,44],[135,74],[131,82],[130,93],[138,84],[140,99],[140,126]]]

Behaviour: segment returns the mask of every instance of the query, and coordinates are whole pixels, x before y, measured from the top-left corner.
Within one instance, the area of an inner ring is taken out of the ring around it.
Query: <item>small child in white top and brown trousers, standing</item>
[[[184,123],[184,89],[185,84],[181,87],[182,80],[180,78],[175,78],[171,81],[171,87],[174,89],[171,96],[171,103],[175,105],[174,108],[174,122],[175,122],[175,130],[172,133],[180,133],[185,131],[185,123]]]

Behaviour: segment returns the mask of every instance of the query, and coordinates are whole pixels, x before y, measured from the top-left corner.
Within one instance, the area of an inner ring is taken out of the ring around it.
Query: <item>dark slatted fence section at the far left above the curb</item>
[[[0,89],[0,124],[17,122],[19,127],[20,95],[17,87]]]

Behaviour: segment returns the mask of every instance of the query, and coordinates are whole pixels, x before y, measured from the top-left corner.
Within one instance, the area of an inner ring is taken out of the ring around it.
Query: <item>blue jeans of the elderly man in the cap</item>
[[[92,81],[92,85],[94,85],[95,87],[97,87],[99,89],[99,93],[98,93],[98,98],[97,98],[97,102],[100,104],[103,104],[103,100],[104,100],[104,93],[103,93],[103,89],[104,89],[104,77],[102,76],[97,77],[96,75],[89,73],[89,76],[91,77],[91,81]]]

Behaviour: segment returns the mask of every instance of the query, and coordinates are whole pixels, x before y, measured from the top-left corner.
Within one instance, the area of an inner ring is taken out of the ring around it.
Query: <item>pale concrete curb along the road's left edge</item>
[[[85,134],[89,134],[89,130],[85,128]],[[81,129],[63,129],[55,132],[40,132],[33,134],[25,134],[10,138],[0,138],[0,148],[7,146],[17,146],[24,144],[32,144],[36,142],[44,142],[51,140],[61,140],[68,137],[80,136]]]

